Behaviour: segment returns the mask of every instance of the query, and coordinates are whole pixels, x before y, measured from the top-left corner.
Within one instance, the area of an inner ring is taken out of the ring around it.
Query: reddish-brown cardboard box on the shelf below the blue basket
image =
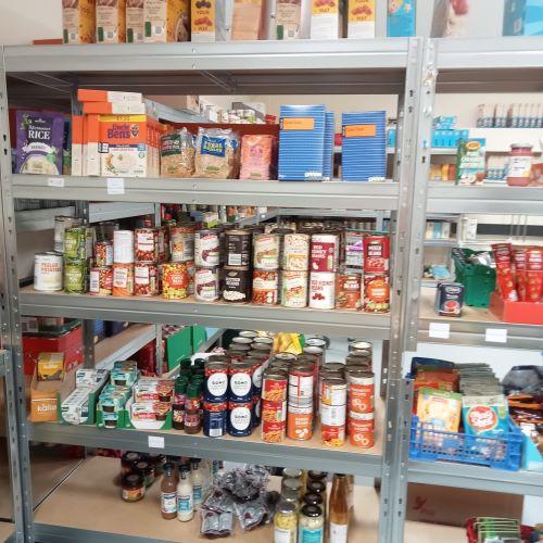
[[[406,519],[465,526],[469,517],[522,517],[523,496],[411,483]]]

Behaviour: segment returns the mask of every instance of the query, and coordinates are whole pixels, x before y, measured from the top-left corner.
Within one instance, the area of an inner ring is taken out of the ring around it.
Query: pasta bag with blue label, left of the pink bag
[[[230,128],[199,128],[194,177],[236,179],[238,151],[238,135]]]

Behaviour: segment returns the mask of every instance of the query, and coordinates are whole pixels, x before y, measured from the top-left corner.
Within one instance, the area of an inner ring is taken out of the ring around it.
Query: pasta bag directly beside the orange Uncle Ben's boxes
[[[194,173],[194,138],[187,128],[161,138],[161,176],[192,177]]]

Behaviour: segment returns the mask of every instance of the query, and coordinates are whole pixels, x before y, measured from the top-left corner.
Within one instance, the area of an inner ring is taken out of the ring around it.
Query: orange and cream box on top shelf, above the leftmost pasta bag
[[[189,0],[144,0],[143,41],[188,41],[189,21]]]

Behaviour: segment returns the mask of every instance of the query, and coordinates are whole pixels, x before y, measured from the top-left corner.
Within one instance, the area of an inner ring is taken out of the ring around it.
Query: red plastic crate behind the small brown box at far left
[[[25,375],[34,375],[39,353],[64,353],[64,368],[72,369],[83,364],[83,328],[78,326],[58,337],[23,336]]]

